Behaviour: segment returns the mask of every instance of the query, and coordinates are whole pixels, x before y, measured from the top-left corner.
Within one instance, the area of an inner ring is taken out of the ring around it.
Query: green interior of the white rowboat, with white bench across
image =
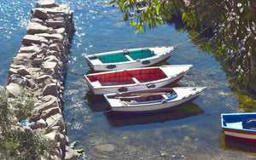
[[[99,59],[102,63],[115,63],[115,62],[125,62],[131,60],[141,60],[154,56],[154,51],[150,49],[137,49],[137,50],[124,50],[119,53],[114,54],[102,54],[102,55],[92,55],[89,57],[90,60]]]

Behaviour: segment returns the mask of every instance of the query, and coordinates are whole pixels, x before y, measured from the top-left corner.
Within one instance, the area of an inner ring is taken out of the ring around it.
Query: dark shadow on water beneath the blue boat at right
[[[224,131],[221,131],[218,134],[218,143],[219,147],[224,150],[230,151],[243,151],[247,153],[254,153],[256,151],[256,142],[248,140],[240,140],[231,136],[224,134]]]

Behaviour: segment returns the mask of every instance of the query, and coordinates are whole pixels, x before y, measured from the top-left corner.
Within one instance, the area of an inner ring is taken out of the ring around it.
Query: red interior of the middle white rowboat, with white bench
[[[143,68],[140,70],[87,75],[87,77],[91,83],[98,81],[102,86],[108,86],[156,81],[165,78],[166,74],[160,68]]]

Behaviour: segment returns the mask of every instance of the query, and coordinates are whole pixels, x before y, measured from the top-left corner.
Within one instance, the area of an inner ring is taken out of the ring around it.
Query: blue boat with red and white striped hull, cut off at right
[[[256,112],[221,114],[224,134],[256,142]]]

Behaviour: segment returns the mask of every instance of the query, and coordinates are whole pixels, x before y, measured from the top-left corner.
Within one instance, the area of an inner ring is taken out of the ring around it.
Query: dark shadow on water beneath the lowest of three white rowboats
[[[104,112],[104,116],[112,127],[127,126],[134,124],[165,123],[170,120],[183,119],[203,113],[204,111],[192,102],[185,103],[175,108],[149,113],[117,113]]]

